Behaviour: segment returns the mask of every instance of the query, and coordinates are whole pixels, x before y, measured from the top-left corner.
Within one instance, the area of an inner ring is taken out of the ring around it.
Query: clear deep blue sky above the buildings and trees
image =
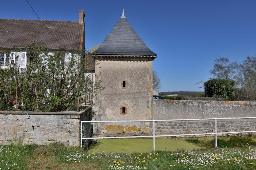
[[[101,44],[125,16],[158,54],[160,91],[202,91],[214,59],[256,55],[255,0],[29,0],[42,20],[78,20],[85,11],[85,47]],[[1,2],[0,18],[37,19],[26,0]],[[1,26],[1,25],[0,25]]]

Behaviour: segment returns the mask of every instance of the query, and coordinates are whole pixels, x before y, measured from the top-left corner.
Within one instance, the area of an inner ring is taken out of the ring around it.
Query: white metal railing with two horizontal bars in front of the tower
[[[109,121],[81,121],[80,130],[80,145],[83,145],[83,139],[124,139],[124,138],[153,138],[153,150],[155,151],[155,138],[156,137],[177,137],[177,136],[193,136],[193,135],[215,135],[215,147],[217,146],[218,134],[234,134],[234,133],[256,133],[256,131],[237,131],[237,132],[217,132],[217,120],[229,120],[229,119],[256,119],[256,117],[241,117],[241,118],[206,118],[206,119],[170,119],[170,120],[109,120]],[[155,122],[174,122],[174,121],[193,121],[193,120],[215,120],[215,132],[214,133],[198,133],[198,134],[174,134],[174,135],[155,135]],[[150,136],[129,136],[129,137],[90,137],[83,138],[83,123],[120,123],[120,122],[153,122],[153,135]]]

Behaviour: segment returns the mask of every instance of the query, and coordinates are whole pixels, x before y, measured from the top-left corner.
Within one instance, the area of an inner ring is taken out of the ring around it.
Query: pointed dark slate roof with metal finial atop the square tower
[[[95,55],[154,55],[124,16],[118,20]]]

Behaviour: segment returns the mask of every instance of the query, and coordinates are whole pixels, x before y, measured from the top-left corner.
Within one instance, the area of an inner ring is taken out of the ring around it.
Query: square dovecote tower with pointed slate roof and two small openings
[[[123,15],[99,48],[95,78],[102,80],[102,90],[95,96],[96,120],[152,119],[151,51]],[[149,131],[149,123],[94,124],[94,133],[129,133]]]

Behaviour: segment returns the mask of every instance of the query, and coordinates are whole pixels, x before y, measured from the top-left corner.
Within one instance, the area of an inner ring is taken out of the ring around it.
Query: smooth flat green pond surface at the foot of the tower
[[[202,149],[195,143],[187,142],[184,138],[156,138],[155,150],[193,150]],[[112,153],[133,153],[150,152],[153,150],[153,139],[99,139],[97,144],[89,147],[89,153],[112,152]]]

